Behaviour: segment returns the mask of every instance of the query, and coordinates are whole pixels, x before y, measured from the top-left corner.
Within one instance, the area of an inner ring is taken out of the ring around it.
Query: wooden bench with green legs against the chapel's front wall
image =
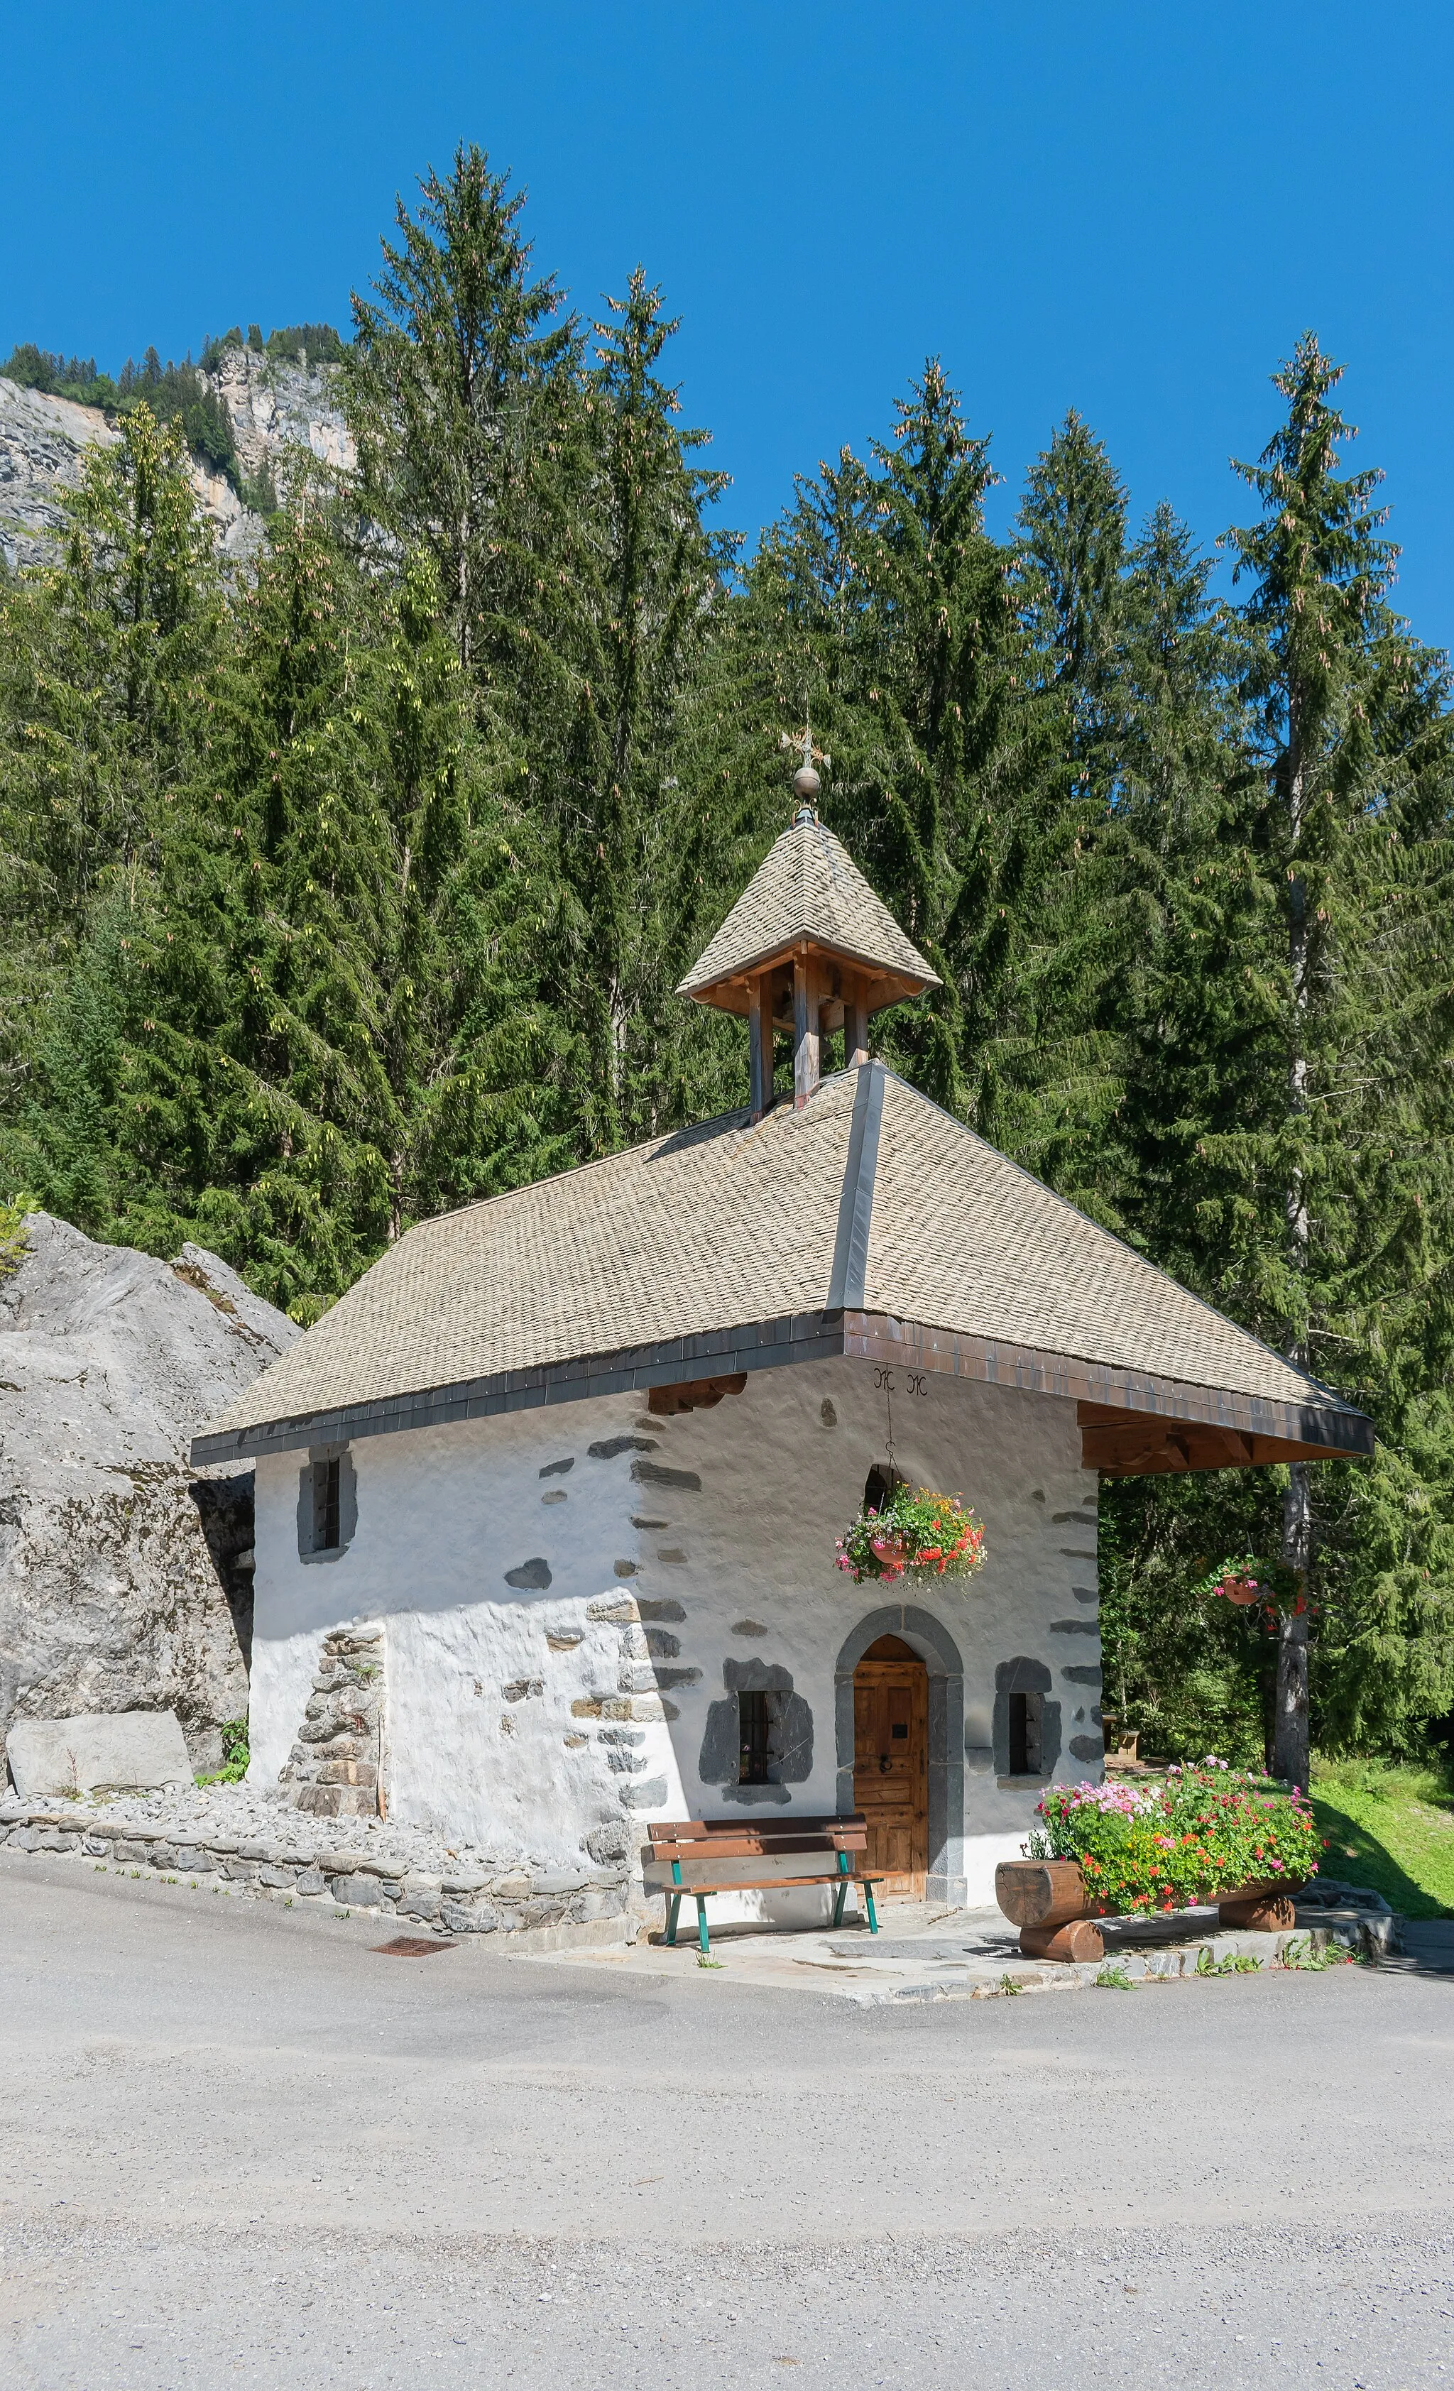
[[[835,1927],[844,1922],[849,1884],[861,1886],[868,1932],[878,1934],[873,1886],[882,1884],[882,1870],[868,1875],[861,1860],[856,1863],[859,1853],[868,1853],[868,1824],[861,1810],[849,1817],[784,1817],[770,1824],[737,1817],[689,1817],[658,1822],[646,1832],[653,1863],[672,1870],[670,1884],[648,1886],[648,1891],[665,1896],[670,1944],[677,1941],[677,1915],[684,1901],[696,1901],[696,1939],[705,1953],[710,1949],[708,1901],[713,1894],[777,1894],[789,1884],[832,1884],[837,1891]],[[684,1867],[686,1875],[682,1875]]]

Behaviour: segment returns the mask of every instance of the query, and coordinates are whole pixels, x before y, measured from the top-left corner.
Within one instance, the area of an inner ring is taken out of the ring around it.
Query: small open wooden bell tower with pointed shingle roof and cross
[[[823,1076],[823,1040],[844,1031],[849,1064],[868,1062],[868,1019],[940,978],[818,820],[820,779],[804,739],[792,827],[772,844],[677,995],[746,1014],[751,1117],[772,1105],[777,1035],[792,1038],[792,1100]]]

